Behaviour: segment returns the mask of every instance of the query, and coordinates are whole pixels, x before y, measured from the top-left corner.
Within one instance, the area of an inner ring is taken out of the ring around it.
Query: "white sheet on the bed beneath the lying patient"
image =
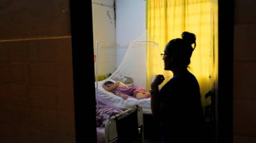
[[[107,80],[112,81],[113,83],[116,82],[116,81],[111,80],[111,79],[107,79]],[[98,81],[98,94],[99,95],[106,98],[106,100],[110,101],[116,107],[118,107],[122,110],[132,108],[136,105],[141,105],[144,114],[152,114],[151,106],[150,106],[151,98],[142,99],[142,100],[137,100],[137,99],[134,99],[134,98],[128,98],[127,100],[123,100],[122,97],[116,96],[115,94],[104,90],[104,88],[102,87],[102,84],[107,80]],[[95,87],[96,87],[96,82],[95,82]]]

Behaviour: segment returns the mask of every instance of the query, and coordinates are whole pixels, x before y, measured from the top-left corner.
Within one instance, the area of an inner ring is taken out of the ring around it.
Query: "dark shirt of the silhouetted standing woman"
[[[167,142],[200,142],[205,121],[196,77],[188,71],[174,76],[160,90],[160,100],[164,103],[160,121]]]

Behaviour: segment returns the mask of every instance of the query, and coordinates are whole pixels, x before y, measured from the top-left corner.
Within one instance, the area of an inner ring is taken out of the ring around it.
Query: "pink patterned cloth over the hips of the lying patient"
[[[147,93],[147,91],[142,88],[141,86],[132,86],[132,87],[126,87],[126,86],[122,86],[122,87],[118,87],[115,90],[112,90],[112,92],[117,95],[118,93],[124,94],[124,95],[128,95],[131,97],[134,97],[134,93],[140,91],[141,93]]]

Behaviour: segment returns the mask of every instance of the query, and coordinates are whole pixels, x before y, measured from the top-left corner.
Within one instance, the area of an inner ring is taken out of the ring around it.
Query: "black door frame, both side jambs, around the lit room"
[[[96,101],[94,96],[88,96],[95,95],[92,1],[69,0],[69,2],[76,143],[84,143],[88,140],[96,142]],[[86,21],[82,21],[81,18],[86,18]],[[219,71],[215,109],[217,143],[222,143],[223,141],[233,142],[234,1],[218,1],[218,18]],[[88,86],[85,88],[83,83],[86,81],[88,81],[86,83]]]

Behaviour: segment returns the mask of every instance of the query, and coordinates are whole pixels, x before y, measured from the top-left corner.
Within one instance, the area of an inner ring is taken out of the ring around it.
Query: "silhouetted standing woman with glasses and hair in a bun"
[[[205,121],[200,88],[196,77],[187,70],[195,48],[196,35],[189,32],[167,43],[161,55],[164,69],[172,71],[173,78],[160,91],[163,75],[157,75],[151,83],[151,109],[161,123],[163,143],[202,143]]]

